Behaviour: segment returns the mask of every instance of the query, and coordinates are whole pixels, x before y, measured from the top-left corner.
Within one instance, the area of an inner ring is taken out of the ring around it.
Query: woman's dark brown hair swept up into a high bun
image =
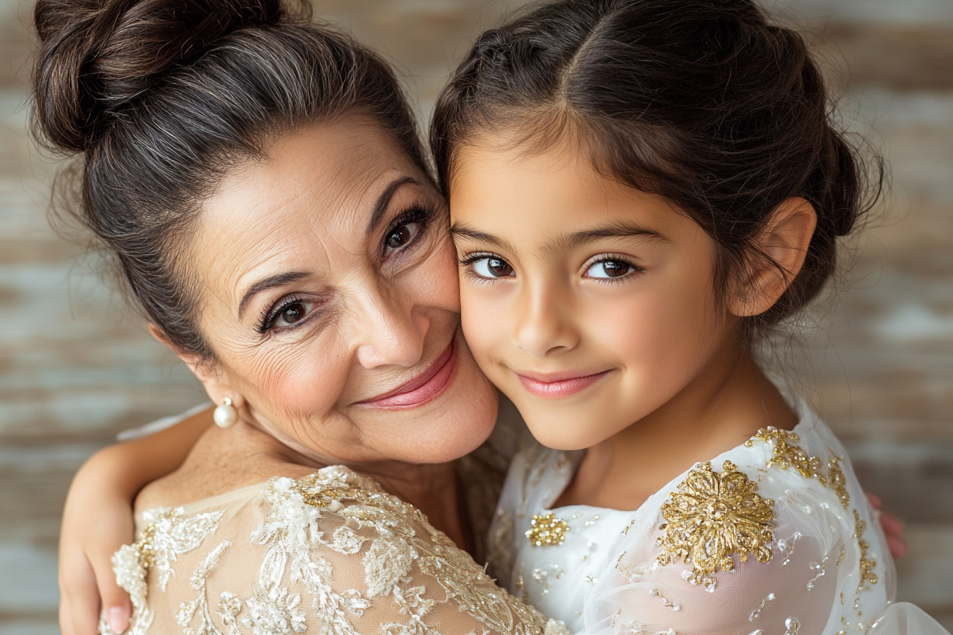
[[[35,132],[82,153],[78,216],[180,352],[214,359],[180,254],[229,169],[349,113],[424,165],[391,69],[305,0],[38,0],[34,22]]]

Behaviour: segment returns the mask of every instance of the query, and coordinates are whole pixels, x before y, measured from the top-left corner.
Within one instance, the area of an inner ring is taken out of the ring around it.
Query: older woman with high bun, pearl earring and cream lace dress
[[[35,21],[37,128],[83,155],[79,217],[228,427],[138,498],[131,632],[558,630],[450,539],[473,540],[451,461],[497,396],[390,69],[278,0]]]

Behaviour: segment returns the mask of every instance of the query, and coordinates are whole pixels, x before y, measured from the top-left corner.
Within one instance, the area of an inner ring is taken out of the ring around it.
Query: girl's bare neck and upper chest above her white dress
[[[636,509],[696,463],[798,418],[747,349],[726,347],[664,406],[590,447],[557,506]]]

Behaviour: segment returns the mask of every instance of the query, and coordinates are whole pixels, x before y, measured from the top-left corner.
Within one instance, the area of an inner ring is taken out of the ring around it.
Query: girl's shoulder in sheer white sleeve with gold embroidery
[[[793,429],[760,429],[687,470],[621,533],[587,602],[593,632],[834,633],[870,625],[892,599],[876,518],[843,446],[806,407]]]

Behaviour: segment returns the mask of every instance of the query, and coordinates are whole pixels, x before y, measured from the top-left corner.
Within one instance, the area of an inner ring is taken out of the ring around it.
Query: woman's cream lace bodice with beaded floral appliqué
[[[113,556],[132,635],[565,633],[347,467],[153,509],[137,526]]]

